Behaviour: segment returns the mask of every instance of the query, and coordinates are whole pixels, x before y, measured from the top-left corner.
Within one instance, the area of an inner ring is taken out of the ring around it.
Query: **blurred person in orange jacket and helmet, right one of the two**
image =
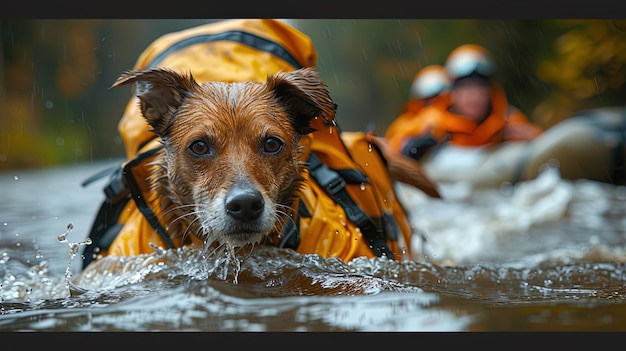
[[[484,47],[456,48],[444,68],[450,88],[424,106],[415,122],[398,123],[385,134],[392,150],[420,160],[433,147],[446,143],[478,147],[530,141],[543,132],[509,104],[503,88],[494,81],[496,64]]]

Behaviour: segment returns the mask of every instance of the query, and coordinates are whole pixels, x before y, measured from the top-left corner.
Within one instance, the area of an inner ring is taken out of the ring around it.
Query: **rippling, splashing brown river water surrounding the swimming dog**
[[[399,186],[413,261],[184,248],[79,274],[70,248],[103,197],[80,183],[107,166],[0,173],[0,330],[626,330],[624,187],[556,170],[516,187],[446,184],[445,200]]]

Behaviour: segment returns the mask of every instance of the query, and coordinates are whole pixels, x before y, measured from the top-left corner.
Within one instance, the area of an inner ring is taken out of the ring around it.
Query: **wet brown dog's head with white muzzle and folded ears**
[[[128,71],[143,117],[163,141],[155,191],[171,199],[173,220],[232,247],[260,241],[289,217],[303,165],[301,135],[335,104],[314,68],[259,82],[203,82],[166,68]],[[180,233],[172,233],[172,235]]]

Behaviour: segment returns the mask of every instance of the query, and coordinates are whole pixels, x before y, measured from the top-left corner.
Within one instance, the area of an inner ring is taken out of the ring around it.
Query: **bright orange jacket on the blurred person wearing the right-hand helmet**
[[[542,132],[524,113],[509,105],[502,88],[492,89],[491,105],[491,114],[476,123],[450,112],[450,95],[442,94],[411,119],[401,115],[385,136],[390,148],[402,152],[409,140],[422,136],[430,136],[438,143],[483,146],[507,140],[531,140]]]

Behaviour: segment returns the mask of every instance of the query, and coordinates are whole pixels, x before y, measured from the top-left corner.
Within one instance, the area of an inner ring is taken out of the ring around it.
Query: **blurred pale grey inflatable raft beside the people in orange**
[[[546,167],[563,179],[626,184],[626,107],[587,110],[546,130],[531,142],[484,147],[443,145],[420,160],[437,183],[473,187],[536,178]]]

